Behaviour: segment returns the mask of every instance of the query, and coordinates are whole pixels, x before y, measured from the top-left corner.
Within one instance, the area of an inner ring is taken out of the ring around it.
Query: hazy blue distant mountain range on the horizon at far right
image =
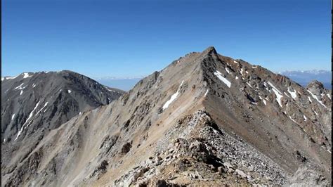
[[[302,86],[306,86],[312,80],[318,80],[324,84],[326,89],[332,89],[332,73],[328,70],[283,71],[278,73],[293,79],[294,82],[297,82]]]

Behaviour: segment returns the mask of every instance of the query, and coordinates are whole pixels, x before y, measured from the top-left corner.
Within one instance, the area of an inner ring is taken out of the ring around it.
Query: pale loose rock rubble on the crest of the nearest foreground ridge
[[[247,185],[286,183],[285,172],[272,160],[239,137],[216,128],[202,110],[184,117],[169,130],[171,136],[182,138],[175,138],[167,147],[157,144],[159,150],[115,181],[115,186],[154,186],[158,179],[178,186],[213,185],[216,181],[232,184],[235,180]]]

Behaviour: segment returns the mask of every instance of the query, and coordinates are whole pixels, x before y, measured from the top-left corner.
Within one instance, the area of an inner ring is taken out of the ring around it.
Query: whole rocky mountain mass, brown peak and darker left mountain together
[[[332,91],[214,47],[124,94],[67,71],[1,93],[1,186],[332,185]]]

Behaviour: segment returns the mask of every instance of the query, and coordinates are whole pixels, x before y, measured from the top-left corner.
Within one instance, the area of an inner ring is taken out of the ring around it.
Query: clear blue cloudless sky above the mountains
[[[215,46],[273,71],[330,70],[330,1],[3,0],[1,74],[149,75]]]

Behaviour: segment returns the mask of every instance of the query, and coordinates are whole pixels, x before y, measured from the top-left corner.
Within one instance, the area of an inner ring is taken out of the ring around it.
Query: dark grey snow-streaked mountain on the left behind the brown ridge
[[[75,72],[1,78],[1,173],[13,171],[52,129],[124,93]]]

